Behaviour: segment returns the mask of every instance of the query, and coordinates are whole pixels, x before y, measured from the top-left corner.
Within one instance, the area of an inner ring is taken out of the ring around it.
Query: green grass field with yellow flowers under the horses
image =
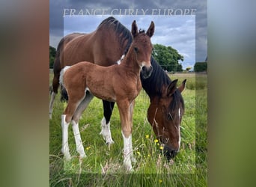
[[[123,138],[118,108],[111,119],[115,144],[105,144],[100,133],[102,101],[94,97],[79,122],[87,157],[79,160],[70,125],[69,144],[73,158],[66,162],[61,155],[61,113],[65,103],[56,96],[52,120],[49,120],[50,186],[207,186],[207,75],[180,73],[170,75],[187,79],[183,91],[185,114],[180,127],[180,152],[167,162],[147,122],[149,98],[142,90],[135,100],[132,146],[137,163],[126,174],[123,163]],[[50,73],[52,82],[52,73]]]

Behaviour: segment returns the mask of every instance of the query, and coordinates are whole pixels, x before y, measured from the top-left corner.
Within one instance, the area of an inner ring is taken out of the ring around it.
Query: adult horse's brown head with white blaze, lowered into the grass
[[[184,113],[184,102],[181,92],[186,80],[179,88],[177,79],[168,87],[162,88],[162,96],[154,97],[147,110],[147,117],[153,126],[156,137],[164,145],[163,153],[168,160],[180,150],[180,122]]]

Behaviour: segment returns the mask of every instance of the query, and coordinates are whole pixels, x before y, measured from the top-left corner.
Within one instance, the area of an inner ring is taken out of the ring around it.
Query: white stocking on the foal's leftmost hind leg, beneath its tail
[[[69,160],[70,148],[68,147],[68,126],[70,123],[66,123],[66,115],[61,115],[61,127],[62,127],[62,149],[61,152],[64,154],[64,159]]]

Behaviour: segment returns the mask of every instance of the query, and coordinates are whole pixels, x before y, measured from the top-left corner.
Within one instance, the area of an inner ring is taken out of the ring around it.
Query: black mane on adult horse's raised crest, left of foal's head
[[[127,46],[124,50],[124,55],[127,54],[130,44],[132,43],[132,34],[131,32],[121,24],[121,22],[118,22],[118,19],[115,19],[114,17],[110,16],[107,19],[104,19],[103,22],[100,23],[97,30],[99,29],[109,29],[112,28],[115,33],[118,36],[118,40],[120,43],[120,46],[124,45],[124,41],[127,40]]]

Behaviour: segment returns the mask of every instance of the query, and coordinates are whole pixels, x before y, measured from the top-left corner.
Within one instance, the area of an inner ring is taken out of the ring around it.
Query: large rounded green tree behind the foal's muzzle
[[[183,70],[179,61],[183,61],[184,58],[177,52],[176,49],[172,48],[171,46],[155,44],[153,45],[152,55],[164,70],[168,70],[169,72],[177,72]]]

